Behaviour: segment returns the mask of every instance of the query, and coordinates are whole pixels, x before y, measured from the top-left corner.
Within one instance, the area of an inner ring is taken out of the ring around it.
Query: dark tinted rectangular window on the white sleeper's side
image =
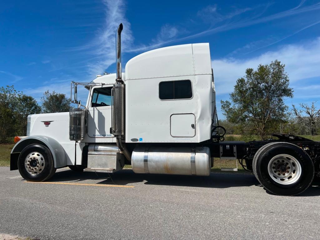
[[[190,80],[166,81],[159,83],[159,98],[161,100],[190,99],[192,85]]]

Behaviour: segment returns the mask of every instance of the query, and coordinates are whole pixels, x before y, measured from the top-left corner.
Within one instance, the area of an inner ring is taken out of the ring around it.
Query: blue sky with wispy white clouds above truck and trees
[[[220,118],[220,100],[245,69],[275,59],[294,89],[286,104],[320,99],[319,1],[12,0],[2,2],[0,22],[0,86],[38,101],[46,90],[69,96],[72,80],[115,72],[120,22],[123,66],[155,48],[209,42]]]

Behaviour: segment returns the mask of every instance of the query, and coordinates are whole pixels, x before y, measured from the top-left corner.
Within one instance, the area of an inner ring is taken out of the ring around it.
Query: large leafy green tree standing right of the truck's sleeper
[[[284,64],[275,60],[269,65],[260,64],[256,71],[247,68],[245,76],[236,81],[231,102],[221,100],[221,108],[228,121],[265,139],[279,121],[287,120],[284,98],[292,96]]]

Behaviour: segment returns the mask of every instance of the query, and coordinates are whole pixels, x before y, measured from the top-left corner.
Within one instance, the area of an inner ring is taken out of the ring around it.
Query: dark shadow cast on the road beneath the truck
[[[262,185],[252,174],[235,174],[211,172],[210,176],[185,176],[166,174],[137,174],[131,169],[123,169],[112,174],[101,172],[73,172],[71,170],[59,171],[50,181],[72,181],[101,180],[97,184],[129,185],[143,182],[146,185],[162,186],[184,186],[201,188],[232,188],[250,187]],[[266,190],[266,189],[265,189]],[[271,194],[266,190],[268,194]],[[312,185],[299,196],[320,196],[320,180],[314,181]]]

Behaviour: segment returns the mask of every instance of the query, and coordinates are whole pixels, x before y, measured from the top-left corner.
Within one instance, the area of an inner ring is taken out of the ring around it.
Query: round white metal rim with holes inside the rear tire
[[[288,185],[299,180],[301,165],[295,157],[288,154],[279,154],[270,160],[268,173],[276,183]]]

